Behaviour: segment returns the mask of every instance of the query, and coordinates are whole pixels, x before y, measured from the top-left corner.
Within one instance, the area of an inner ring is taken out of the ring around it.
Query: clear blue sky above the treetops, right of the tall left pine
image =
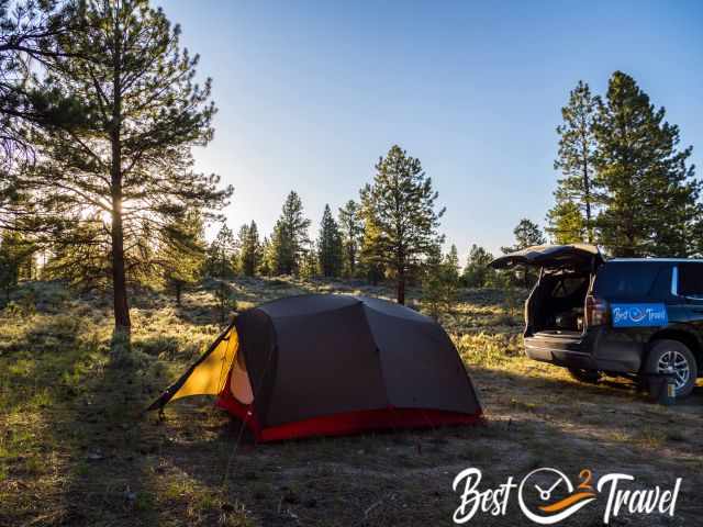
[[[544,226],[560,108],[615,70],[667,109],[703,175],[703,2],[164,0],[213,79],[196,168],[235,189],[235,232],[269,234],[295,190],[314,235],[393,144],[422,160],[465,261],[522,217]],[[212,232],[209,233],[212,235]]]

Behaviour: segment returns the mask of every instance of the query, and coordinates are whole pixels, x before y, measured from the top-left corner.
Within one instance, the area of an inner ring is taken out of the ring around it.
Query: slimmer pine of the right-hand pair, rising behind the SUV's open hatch
[[[563,124],[557,126],[559,153],[554,162],[561,170],[554,195],[556,205],[547,213],[551,236],[556,240],[594,242],[595,206],[599,189],[593,179],[595,156],[594,125],[600,98],[593,97],[589,85],[579,80],[561,109]],[[579,214],[578,221],[576,213]]]

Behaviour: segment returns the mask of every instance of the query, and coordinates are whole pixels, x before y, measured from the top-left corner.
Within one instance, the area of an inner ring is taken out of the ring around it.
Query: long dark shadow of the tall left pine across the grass
[[[158,525],[148,455],[161,438],[141,415],[158,369],[131,349],[129,337],[113,337],[72,412],[51,424],[55,441],[67,449],[62,524]]]

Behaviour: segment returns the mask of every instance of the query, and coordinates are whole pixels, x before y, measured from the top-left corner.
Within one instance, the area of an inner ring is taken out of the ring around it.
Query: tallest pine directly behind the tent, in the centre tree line
[[[369,218],[365,248],[371,261],[390,269],[397,280],[398,303],[405,303],[405,284],[434,247],[444,209],[435,211],[437,192],[420,159],[398,145],[376,165],[373,183],[361,190],[361,206]]]

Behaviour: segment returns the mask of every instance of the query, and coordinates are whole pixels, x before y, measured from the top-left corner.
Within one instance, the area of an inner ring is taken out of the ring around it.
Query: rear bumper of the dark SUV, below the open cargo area
[[[638,373],[644,345],[626,332],[546,332],[525,337],[527,357],[565,368]]]

